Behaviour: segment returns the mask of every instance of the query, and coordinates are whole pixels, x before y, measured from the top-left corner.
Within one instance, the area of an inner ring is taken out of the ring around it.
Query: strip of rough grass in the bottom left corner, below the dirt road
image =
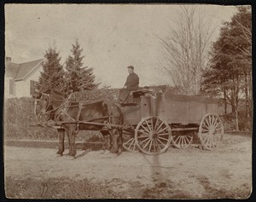
[[[11,199],[113,199],[119,193],[87,179],[49,178],[5,179],[6,196]]]

